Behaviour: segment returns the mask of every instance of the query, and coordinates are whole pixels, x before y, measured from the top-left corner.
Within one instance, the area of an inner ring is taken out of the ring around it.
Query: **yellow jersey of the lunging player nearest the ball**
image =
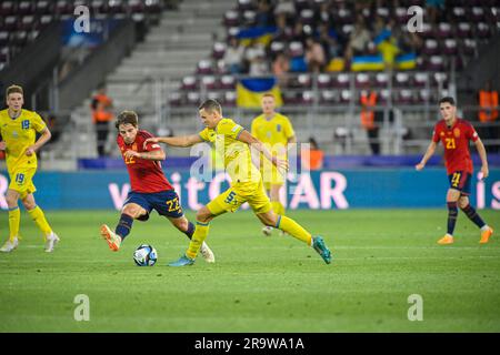
[[[222,119],[216,129],[206,128],[200,138],[214,145],[218,154],[223,156],[224,168],[232,183],[259,182],[259,170],[253,165],[250,148],[247,143],[238,141],[244,129],[231,119]]]

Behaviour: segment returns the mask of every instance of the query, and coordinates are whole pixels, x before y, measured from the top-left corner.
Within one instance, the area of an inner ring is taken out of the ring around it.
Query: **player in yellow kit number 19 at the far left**
[[[9,207],[9,240],[0,252],[12,252],[19,244],[19,225],[21,212],[18,200],[21,199],[24,209],[41,230],[46,241],[46,252],[51,253],[59,237],[47,223],[43,211],[37,205],[32,178],[37,172],[37,151],[47,143],[50,131],[36,112],[23,110],[23,91],[21,87],[11,85],[6,92],[8,109],[0,111],[0,150],[6,151],[7,170],[10,184],[7,190]],[[36,141],[36,133],[41,136]]]

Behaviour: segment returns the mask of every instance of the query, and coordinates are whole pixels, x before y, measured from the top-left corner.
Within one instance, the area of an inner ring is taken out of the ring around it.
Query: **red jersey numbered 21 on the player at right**
[[[436,123],[432,141],[442,142],[444,146],[444,163],[447,173],[466,171],[472,174],[472,159],[469,152],[469,141],[476,142],[479,139],[472,124],[466,120],[457,119],[451,128],[447,126],[444,120]]]

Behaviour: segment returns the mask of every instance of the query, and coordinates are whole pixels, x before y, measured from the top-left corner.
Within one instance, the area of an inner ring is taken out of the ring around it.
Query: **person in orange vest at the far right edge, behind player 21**
[[[479,106],[480,111],[478,113],[479,121],[484,123],[484,126],[480,128],[480,136],[482,140],[498,140],[499,129],[494,125],[490,125],[498,120],[498,91],[491,87],[491,81],[488,80],[484,87],[479,90]],[[488,144],[488,151],[497,153],[499,151],[498,144]]]

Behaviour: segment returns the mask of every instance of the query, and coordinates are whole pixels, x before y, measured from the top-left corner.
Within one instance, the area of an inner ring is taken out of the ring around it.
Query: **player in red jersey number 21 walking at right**
[[[453,230],[458,216],[458,206],[466,215],[481,229],[479,243],[488,243],[493,230],[482,221],[474,207],[469,204],[470,185],[472,176],[472,159],[469,152],[469,141],[474,142],[481,158],[481,179],[488,178],[488,160],[484,145],[479,139],[472,124],[457,118],[457,106],[453,98],[443,98],[439,101],[439,110],[442,120],[434,125],[432,142],[419,164],[418,171],[426,166],[427,161],[434,153],[436,146],[441,141],[444,148],[444,162],[447,166],[450,189],[447,194],[448,204],[448,232],[438,241],[439,244],[453,243]]]

